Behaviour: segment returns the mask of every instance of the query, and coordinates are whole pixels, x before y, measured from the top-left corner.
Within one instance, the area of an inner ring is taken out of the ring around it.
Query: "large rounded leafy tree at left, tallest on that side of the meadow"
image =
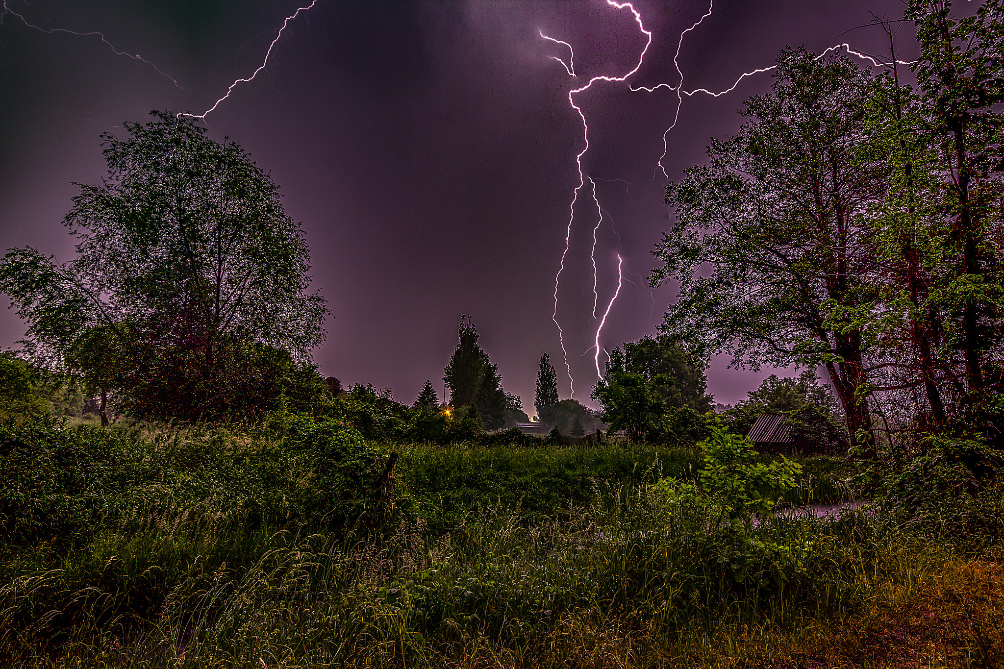
[[[124,123],[124,138],[101,135],[108,176],[80,185],[64,220],[76,257],[59,265],[14,249],[0,290],[27,321],[36,361],[113,384],[102,389],[144,414],[212,417],[217,398],[240,396],[229,384],[236,351],[244,360],[248,346],[266,357],[288,351],[305,365],[329,312],[306,294],[307,245],[271,178],[193,118],[153,115]],[[160,384],[140,401],[148,367],[186,385]]]

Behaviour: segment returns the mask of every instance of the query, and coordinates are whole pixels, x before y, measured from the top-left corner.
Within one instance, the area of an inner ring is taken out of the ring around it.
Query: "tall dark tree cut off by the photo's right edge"
[[[951,3],[913,0],[921,56],[913,65],[923,92],[923,115],[940,153],[941,245],[932,299],[945,312],[946,349],[961,354],[970,410],[993,403],[999,390],[1004,337],[1001,203],[1004,151],[1004,2],[988,0],[976,14],[953,18]],[[999,409],[978,409],[994,413]],[[1000,418],[991,418],[1000,439]]]

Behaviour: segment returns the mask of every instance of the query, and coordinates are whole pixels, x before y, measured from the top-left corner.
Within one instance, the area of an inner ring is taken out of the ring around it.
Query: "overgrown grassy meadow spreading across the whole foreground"
[[[429,445],[313,428],[3,423],[0,662],[1001,658],[999,485],[937,512],[915,505],[906,521],[875,505],[781,518],[668,493],[660,480],[697,480],[706,466],[695,447]],[[845,459],[800,464],[782,506],[854,496],[859,468]]]

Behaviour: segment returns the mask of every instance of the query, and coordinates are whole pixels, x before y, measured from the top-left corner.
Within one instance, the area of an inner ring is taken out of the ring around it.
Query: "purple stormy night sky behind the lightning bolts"
[[[308,4],[309,0],[306,3]],[[72,256],[61,220],[77,189],[105,174],[98,133],[151,109],[202,113],[231,82],[262,63],[293,2],[252,0],[7,0],[46,34],[8,13],[0,24],[0,249],[30,245],[57,260]],[[636,2],[653,42],[630,79],[652,86],[679,80],[673,58],[681,32],[707,0]],[[814,51],[849,42],[887,54],[877,28],[841,33],[894,17],[898,0],[716,0],[689,32],[679,63],[685,88],[729,87],[744,71],[773,62],[785,45]],[[550,59],[575,49],[577,77]],[[909,28],[898,38],[916,55]],[[286,211],[302,222],[313,287],[333,319],[315,352],[324,375],[391,387],[411,402],[426,379],[442,393],[443,366],[470,314],[506,390],[533,413],[537,361],[550,354],[558,390],[569,393],[551,321],[554,275],[564,248],[581,120],[567,92],[598,74],[619,76],[638,62],[643,35],[628,9],[582,2],[347,2],[317,0],[291,21],[267,66],[207,116],[210,134],[234,138],[269,171]],[[685,97],[664,160],[671,179],[704,158],[711,136],[738,127],[747,96],[769,74],[745,79],[718,98]],[[657,174],[676,94],[632,92],[596,82],[576,96],[589,122],[583,170],[596,182],[603,224],[596,235],[597,316],[624,284],[600,338],[610,349],[655,333],[672,287],[647,288],[651,256],[672,225]],[[589,248],[597,215],[591,187],[578,199],[561,277],[557,317],[574,397],[595,382]],[[7,300],[3,299],[4,306]],[[0,310],[0,348],[24,326]],[[602,363],[603,358],[600,358]],[[716,358],[709,390],[743,399],[772,370],[727,369]],[[784,374],[784,372],[781,372]],[[792,373],[792,372],[789,372]]]

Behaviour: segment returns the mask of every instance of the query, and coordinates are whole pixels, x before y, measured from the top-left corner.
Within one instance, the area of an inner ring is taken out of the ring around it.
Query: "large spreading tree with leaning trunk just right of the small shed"
[[[873,457],[868,342],[827,317],[876,293],[866,214],[890,175],[862,127],[877,84],[845,57],[804,48],[781,52],[774,76],[771,93],[746,101],[736,136],[713,141],[709,163],[667,188],[677,225],[654,251],[665,265],[651,281],[681,288],[660,329],[754,368],[824,364]]]

